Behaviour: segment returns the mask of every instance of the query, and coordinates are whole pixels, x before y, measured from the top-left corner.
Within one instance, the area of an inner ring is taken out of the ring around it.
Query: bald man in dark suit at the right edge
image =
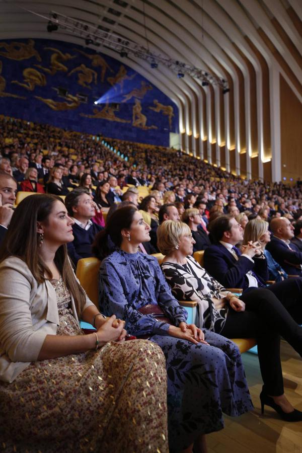
[[[294,230],[290,221],[285,217],[273,218],[270,229],[273,237],[267,250],[287,274],[302,276],[302,252],[290,242]]]

